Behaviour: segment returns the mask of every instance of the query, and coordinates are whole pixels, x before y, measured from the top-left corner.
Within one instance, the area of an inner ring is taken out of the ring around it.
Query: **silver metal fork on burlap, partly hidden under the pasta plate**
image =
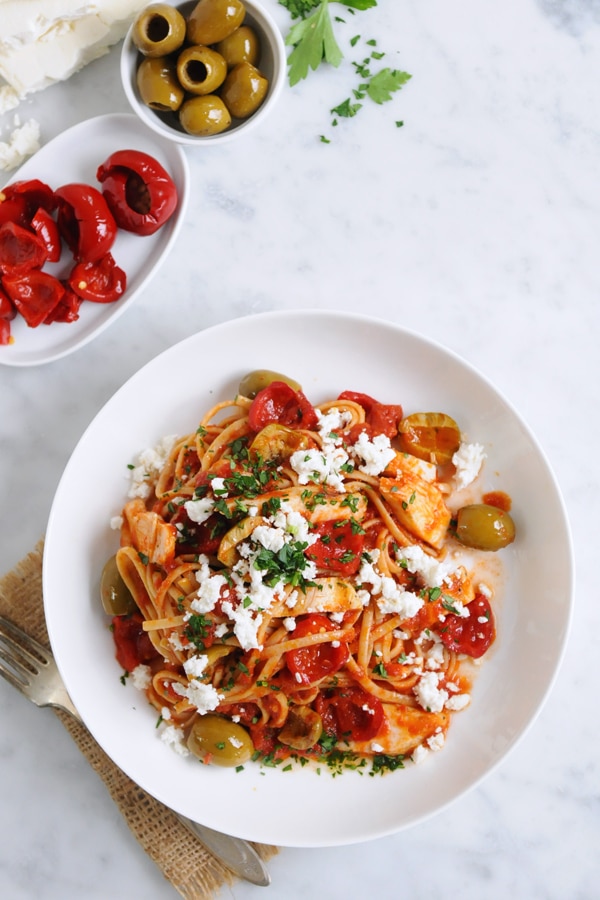
[[[0,616],[0,675],[36,706],[62,709],[83,724],[52,653],[3,616]],[[265,864],[247,841],[173,812],[188,831],[240,878],[262,887],[271,883]]]

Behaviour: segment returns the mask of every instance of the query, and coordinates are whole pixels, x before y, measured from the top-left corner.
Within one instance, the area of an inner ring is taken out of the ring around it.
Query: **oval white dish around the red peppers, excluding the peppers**
[[[179,204],[176,212],[159,231],[148,237],[119,229],[111,252],[127,275],[127,290],[120,300],[115,303],[84,301],[76,322],[54,322],[37,328],[29,328],[17,315],[11,322],[14,343],[0,346],[0,364],[39,366],[83,347],[137,300],[142,288],[164,262],[185,216],[189,196],[188,163],[181,147],[151,132],[136,116],[116,113],[74,125],[28,159],[11,182],[38,178],[53,190],[70,182],[91,184],[101,190],[96,171],[116,150],[142,150],[164,166],[177,187]],[[63,249],[61,262],[46,267],[46,270],[62,277],[72,265],[71,254]]]

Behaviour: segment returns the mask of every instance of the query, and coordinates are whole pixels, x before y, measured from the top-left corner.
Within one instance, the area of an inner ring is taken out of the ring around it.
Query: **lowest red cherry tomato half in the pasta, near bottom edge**
[[[319,694],[314,705],[323,730],[338,740],[370,741],[385,718],[381,701],[358,686]]]

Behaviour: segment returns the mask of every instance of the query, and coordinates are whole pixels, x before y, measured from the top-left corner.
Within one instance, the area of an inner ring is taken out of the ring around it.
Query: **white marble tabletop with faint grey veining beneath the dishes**
[[[286,11],[265,5],[285,29]],[[439,340],[506,394],[561,485],[577,597],[559,678],[502,766],[450,809],[358,847],[284,850],[271,888],[237,883],[221,900],[591,900],[600,3],[379,0],[359,15],[348,36],[376,38],[386,62],[413,75],[391,103],[329,127],[329,108],[356,83],[348,52],[337,72],[286,88],[243,143],[188,150],[186,221],[141,300],[70,357],[0,370],[0,571],[43,534],[61,471],[101,405],[186,335],[253,312],[329,307]],[[18,110],[38,119],[44,141],[112,111],[128,111],[118,48]],[[0,682],[0,721],[0,896],[174,898],[52,713]]]

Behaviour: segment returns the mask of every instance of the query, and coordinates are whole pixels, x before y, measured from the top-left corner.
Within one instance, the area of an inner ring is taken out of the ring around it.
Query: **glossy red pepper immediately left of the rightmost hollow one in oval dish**
[[[65,184],[55,194],[58,230],[75,259],[102,259],[115,242],[117,223],[100,191],[89,184]]]

